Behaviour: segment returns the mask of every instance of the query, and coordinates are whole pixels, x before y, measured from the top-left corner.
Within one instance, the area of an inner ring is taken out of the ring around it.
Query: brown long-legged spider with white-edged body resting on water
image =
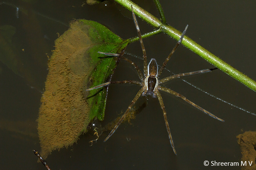
[[[93,89],[96,89],[96,88],[101,88],[101,87],[109,85],[109,84],[130,83],[130,84],[136,84],[136,85],[142,86],[140,91],[137,93],[137,95],[134,97],[133,101],[129,105],[128,109],[125,111],[124,115],[121,117],[119,122],[113,128],[113,130],[109,133],[108,137],[104,140],[104,142],[106,142],[108,140],[108,138],[115,132],[117,127],[121,124],[123,119],[125,119],[127,113],[130,111],[131,107],[134,105],[134,103],[137,101],[137,99],[140,96],[151,96],[153,98],[158,98],[158,100],[160,102],[161,108],[163,110],[163,117],[164,117],[164,120],[165,120],[165,123],[166,123],[166,128],[167,128],[167,132],[168,132],[168,135],[169,135],[170,143],[172,145],[172,149],[173,149],[175,155],[177,155],[177,153],[175,151],[175,148],[174,148],[173,141],[172,141],[172,135],[171,135],[171,132],[170,132],[168,120],[167,120],[167,117],[166,117],[166,109],[165,109],[165,107],[163,105],[163,99],[162,99],[162,96],[161,96],[159,91],[164,91],[164,92],[167,92],[169,94],[173,94],[173,95],[175,95],[177,97],[180,97],[185,102],[188,102],[190,105],[194,106],[195,108],[198,108],[200,111],[206,113],[207,115],[212,116],[213,118],[218,119],[218,120],[220,120],[222,122],[224,122],[224,120],[220,119],[217,116],[213,115],[212,113],[204,110],[203,108],[201,108],[200,106],[198,106],[195,103],[191,102],[190,100],[186,99],[186,97],[178,94],[177,92],[172,91],[169,88],[165,88],[163,86],[160,86],[160,84],[162,84],[164,82],[167,82],[167,81],[169,81],[171,79],[175,79],[175,78],[179,78],[179,77],[183,77],[183,76],[211,72],[212,69],[205,69],[205,70],[193,71],[193,72],[189,72],[189,73],[176,74],[176,75],[173,75],[173,76],[170,76],[170,77],[166,77],[164,79],[160,79],[159,80],[159,77],[160,77],[163,69],[165,68],[167,62],[169,61],[170,57],[175,52],[177,47],[180,45],[180,42],[182,41],[182,39],[183,39],[183,37],[184,37],[184,35],[186,33],[186,29],[188,28],[188,25],[186,26],[185,30],[183,31],[183,33],[182,33],[182,35],[180,37],[180,40],[177,42],[177,44],[173,48],[172,52],[166,58],[165,62],[163,62],[163,65],[161,66],[160,70],[158,70],[156,59],[152,58],[150,60],[149,64],[147,65],[146,51],[145,51],[145,48],[144,48],[144,45],[143,45],[143,41],[142,41],[142,38],[141,38],[140,28],[139,28],[139,25],[137,23],[137,20],[136,20],[136,17],[135,17],[135,14],[134,14],[132,6],[131,6],[131,11],[132,11],[132,15],[133,15],[135,26],[137,28],[138,36],[139,36],[139,39],[140,39],[140,45],[141,45],[141,48],[142,48],[142,51],[143,51],[143,67],[144,67],[143,74],[140,71],[139,67],[134,62],[132,62],[131,60],[129,60],[129,59],[125,58],[125,57],[123,57],[122,54],[113,54],[113,53],[104,53],[104,52],[98,52],[98,53],[109,55],[109,56],[120,57],[120,58],[124,59],[125,61],[131,63],[131,65],[133,65],[134,68],[137,70],[137,73],[138,73],[141,81],[133,81],[133,80],[111,81],[111,82],[106,82],[106,83],[104,83],[102,85],[95,86],[93,88],[89,88],[86,91],[90,91],[90,90],[93,90]]]

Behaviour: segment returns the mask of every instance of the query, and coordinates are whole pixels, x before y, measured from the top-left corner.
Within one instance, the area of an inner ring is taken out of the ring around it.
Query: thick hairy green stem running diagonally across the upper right
[[[181,32],[176,30],[175,28],[163,24],[160,20],[154,17],[152,14],[145,11],[140,6],[137,6],[135,3],[131,2],[130,0],[115,0],[117,3],[121,4],[125,8],[131,11],[131,5],[133,6],[134,13],[149,23],[151,26],[160,29],[163,33],[168,34],[170,37],[174,38],[175,40],[179,40],[181,36]],[[189,37],[184,36],[182,42],[184,46],[198,54],[200,57],[206,59],[209,63],[214,65],[215,67],[219,68],[221,71],[227,73],[234,79],[238,80],[239,82],[246,85],[248,88],[256,91],[256,82],[253,79],[250,79],[245,74],[241,73],[240,71],[233,68],[231,65],[227,64],[220,58],[216,57],[214,54],[207,51],[201,45],[196,43],[195,41],[191,40]]]

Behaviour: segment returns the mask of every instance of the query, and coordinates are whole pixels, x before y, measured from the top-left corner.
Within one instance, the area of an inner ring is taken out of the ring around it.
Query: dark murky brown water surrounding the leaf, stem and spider
[[[3,1],[0,1],[0,4]],[[151,14],[159,14],[151,1],[137,2]],[[167,22],[216,56],[228,62],[252,79],[256,79],[255,27],[256,2],[247,1],[169,1],[161,2]],[[17,7],[18,12],[17,12]],[[28,14],[28,15],[27,15]],[[137,35],[131,12],[112,2],[95,6],[81,6],[80,1],[36,1],[26,4],[21,0],[5,1],[0,5],[0,26],[15,27],[13,42],[19,52],[17,60],[20,76],[7,64],[0,62],[0,164],[1,169],[38,169],[32,150],[40,150],[37,125],[41,91],[47,76],[47,56],[54,49],[56,33],[63,34],[70,20],[94,20],[110,28],[123,39]],[[142,34],[153,28],[138,19]],[[65,26],[66,25],[66,26]],[[175,46],[175,40],[157,35],[144,41],[148,59],[161,64]],[[22,51],[24,49],[24,51]],[[15,50],[17,51],[17,50]],[[127,47],[128,52],[142,56],[138,42]],[[142,61],[127,56],[138,65]],[[23,66],[25,65],[25,66]],[[173,73],[213,68],[201,57],[180,46],[170,59],[167,69]],[[169,76],[168,71],[163,77]],[[126,62],[120,62],[113,80],[137,79],[136,71]],[[256,112],[256,94],[220,70],[209,74],[186,77],[198,86],[233,105]],[[35,87],[35,88],[31,88]],[[192,102],[224,119],[220,122],[201,113],[176,97],[162,93],[166,106],[177,156],[172,151],[163,113],[156,99],[148,100],[147,107],[103,142],[107,133],[93,143],[90,135],[80,137],[73,147],[54,151],[47,158],[52,170],[65,169],[234,169],[240,167],[204,167],[204,161],[240,162],[241,151],[236,136],[243,131],[256,130],[256,116],[227,105],[179,80],[166,87],[183,94]],[[103,125],[125,111],[137,94],[135,85],[111,85]],[[145,99],[137,102],[137,107]],[[129,142],[127,139],[131,139]]]

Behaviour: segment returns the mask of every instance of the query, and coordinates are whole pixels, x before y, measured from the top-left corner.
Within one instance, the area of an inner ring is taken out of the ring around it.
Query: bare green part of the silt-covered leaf
[[[90,76],[90,87],[95,87],[106,82],[108,77],[113,74],[113,70],[116,68],[116,57],[105,57],[101,52],[119,53],[128,44],[128,41],[122,40],[116,34],[113,34],[105,26],[99,23],[87,20],[81,20],[84,24],[90,25],[88,35],[95,45],[88,50],[91,56],[92,62],[97,63],[96,67],[92,70]],[[95,29],[97,28],[97,30]],[[102,57],[105,57],[102,59]],[[86,82],[85,82],[86,83]],[[93,96],[99,89],[89,91],[88,96]],[[99,94],[93,97],[88,97],[90,109],[90,120],[97,117],[99,120],[104,119],[105,106],[106,106],[106,88],[99,91]]]

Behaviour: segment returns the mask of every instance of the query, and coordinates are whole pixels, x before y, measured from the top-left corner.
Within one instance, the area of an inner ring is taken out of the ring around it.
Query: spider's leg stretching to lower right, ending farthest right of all
[[[215,115],[213,115],[212,113],[210,113],[209,111],[207,111],[207,110],[201,108],[200,106],[198,106],[198,105],[196,105],[195,103],[191,102],[189,99],[187,99],[186,97],[182,96],[181,94],[178,94],[177,92],[172,91],[171,89],[165,88],[165,87],[160,86],[160,85],[158,86],[158,88],[159,88],[161,91],[165,91],[165,92],[167,92],[167,93],[170,93],[170,94],[173,94],[173,95],[175,95],[175,96],[177,96],[177,97],[180,97],[180,98],[183,99],[185,102],[188,102],[190,105],[194,106],[195,108],[198,108],[200,111],[202,111],[202,112],[208,114],[209,116],[212,116],[212,117],[215,118],[215,119],[218,119],[218,120],[221,121],[221,122],[224,122],[223,119],[220,119],[220,118],[218,118],[217,116],[215,116]]]

